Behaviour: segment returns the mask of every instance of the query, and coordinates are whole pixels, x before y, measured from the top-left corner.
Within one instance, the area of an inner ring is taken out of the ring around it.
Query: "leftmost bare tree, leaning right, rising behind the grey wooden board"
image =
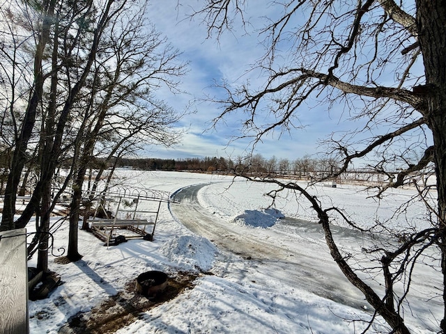
[[[16,10],[14,5],[17,3],[7,3],[6,1],[2,5],[5,5],[2,10],[2,25],[7,27],[3,32],[2,43],[2,59],[5,63],[2,65],[2,77],[8,78],[8,85],[3,86],[4,95],[8,95],[6,99],[6,110],[8,110],[8,119],[10,120],[10,127],[13,129],[13,141],[11,145],[15,146],[13,151],[13,158],[11,161],[10,173],[8,174],[8,182],[6,183],[5,198],[3,205],[2,216],[2,228],[14,228],[13,214],[15,213],[15,198],[17,196],[17,186],[20,182],[20,174],[22,168],[26,163],[26,148],[29,140],[33,134],[33,126],[36,122],[36,115],[38,112],[38,104],[43,94],[43,83],[45,81],[43,72],[43,58],[45,48],[49,42],[49,31],[52,25],[52,15],[54,14],[55,1],[44,1],[42,3],[42,15],[38,17],[28,6],[21,6],[22,10]],[[21,11],[28,15],[22,15]],[[9,23],[10,22],[10,23]],[[33,25],[36,25],[34,27]],[[18,29],[17,29],[18,27]],[[36,28],[36,30],[33,30]],[[31,34],[24,34],[24,31],[31,31]],[[20,47],[26,46],[28,40],[35,40],[35,53],[33,59],[24,57],[23,61],[17,61],[17,58],[21,58],[25,54],[20,50]],[[5,45],[13,44],[13,47],[6,47]],[[29,65],[33,61],[33,71],[29,77],[30,71],[24,69],[26,65]],[[22,71],[23,70],[23,71]],[[20,74],[22,73],[22,74]],[[26,111],[24,115],[17,120],[16,106],[20,108],[19,97],[26,93],[20,92],[20,81],[30,79],[33,85],[29,88],[29,97],[26,105]],[[4,119],[4,118],[3,118]],[[22,126],[17,124],[21,121]]]

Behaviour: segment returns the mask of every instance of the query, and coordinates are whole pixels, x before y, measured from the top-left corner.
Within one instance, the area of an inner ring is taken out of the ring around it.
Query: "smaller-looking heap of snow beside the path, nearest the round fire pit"
[[[183,235],[165,242],[160,253],[185,271],[209,271],[217,249],[206,238],[197,235]]]

